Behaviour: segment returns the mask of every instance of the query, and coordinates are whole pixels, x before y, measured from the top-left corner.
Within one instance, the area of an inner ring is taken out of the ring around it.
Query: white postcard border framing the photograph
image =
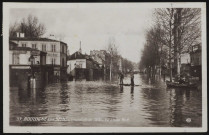
[[[139,5],[138,5],[139,4]],[[202,10],[202,127],[26,127],[9,125],[9,9],[10,8],[201,8]],[[3,132],[4,133],[69,133],[69,132],[206,132],[207,131],[207,48],[206,3],[3,3]]]

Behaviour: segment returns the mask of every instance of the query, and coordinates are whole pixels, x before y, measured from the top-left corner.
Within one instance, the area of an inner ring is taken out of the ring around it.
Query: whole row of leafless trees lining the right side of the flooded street
[[[201,9],[163,8],[154,12],[155,23],[147,31],[140,68],[151,76],[156,67],[168,69],[170,81],[180,74],[181,55],[191,51],[191,46],[201,43]]]

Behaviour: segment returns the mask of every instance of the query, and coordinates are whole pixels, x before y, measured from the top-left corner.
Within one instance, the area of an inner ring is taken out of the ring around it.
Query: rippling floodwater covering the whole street
[[[135,74],[135,84],[67,82],[10,90],[10,125],[71,127],[201,127],[202,92],[168,89]],[[124,83],[130,83],[128,77]]]

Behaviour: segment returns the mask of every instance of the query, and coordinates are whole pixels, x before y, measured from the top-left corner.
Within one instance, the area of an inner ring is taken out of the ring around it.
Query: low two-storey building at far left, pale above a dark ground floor
[[[29,79],[35,76],[37,88],[42,87],[47,80],[46,76],[46,53],[29,47],[17,47],[10,41],[9,71],[10,86],[27,89]],[[31,57],[33,60],[31,61]]]

